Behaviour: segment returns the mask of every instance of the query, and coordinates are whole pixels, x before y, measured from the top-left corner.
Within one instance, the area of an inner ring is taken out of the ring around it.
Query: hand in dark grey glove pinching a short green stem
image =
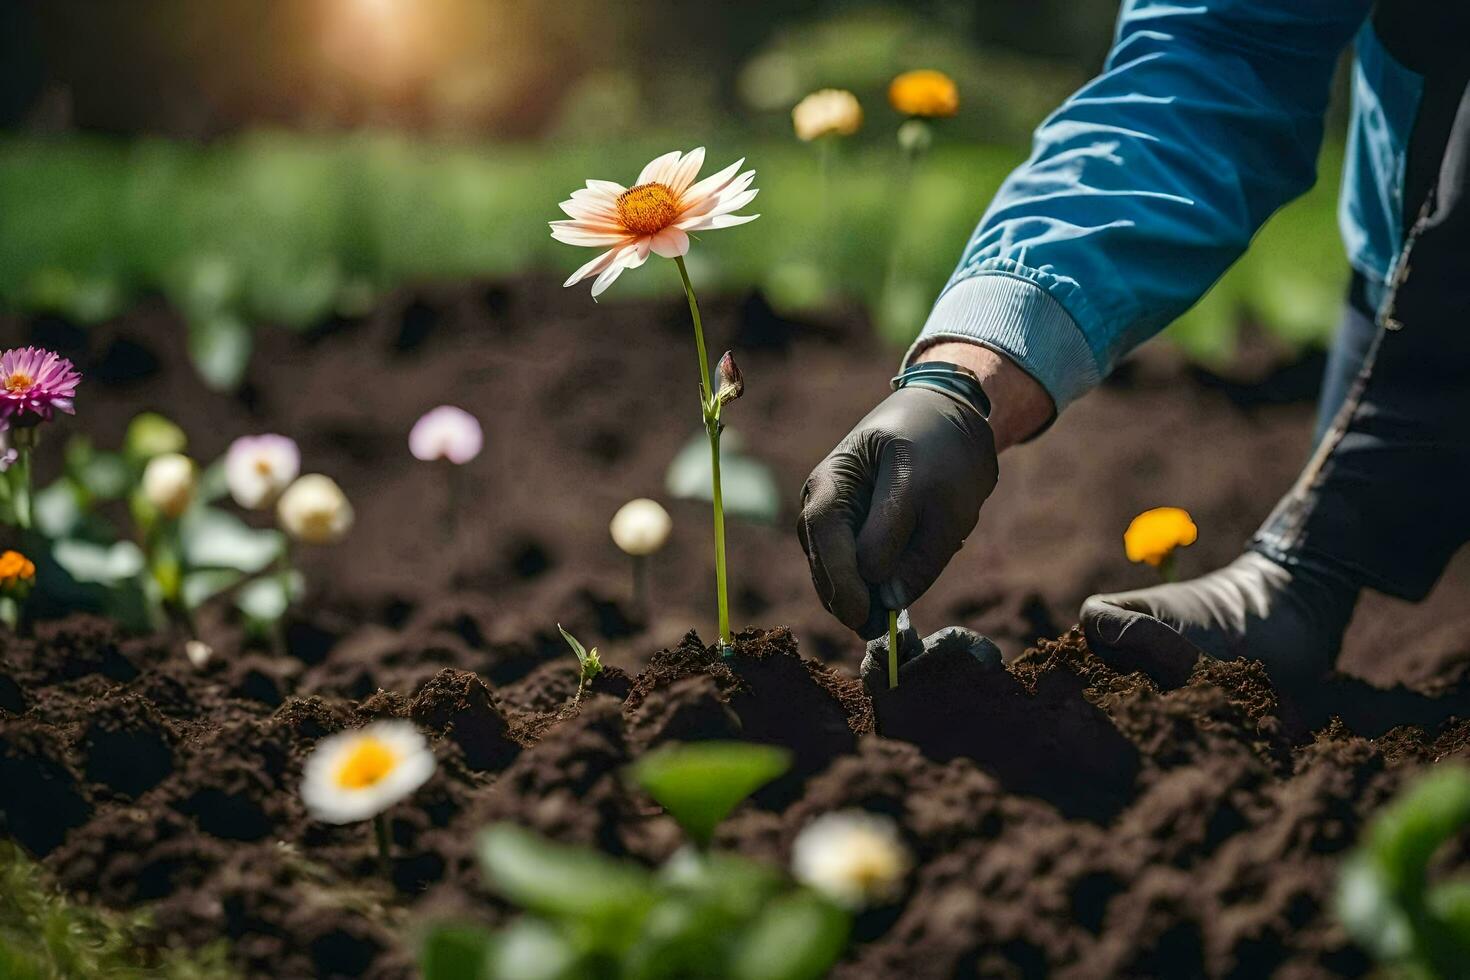
[[[900,388],[807,478],[797,533],[822,605],[863,639],[933,585],[995,489],[995,438],[969,404]]]

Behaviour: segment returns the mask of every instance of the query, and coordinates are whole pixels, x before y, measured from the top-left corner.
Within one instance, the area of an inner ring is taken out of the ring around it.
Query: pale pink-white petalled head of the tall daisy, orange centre
[[[572,273],[564,285],[597,276],[592,297],[623,273],[648,260],[648,253],[676,259],[689,251],[689,232],[732,228],[753,222],[760,215],[735,215],[756,200],[754,170],[739,173],[745,160],[736,160],[698,184],[694,178],[704,166],[704,147],[689,153],[664,153],[623,187],[612,181],[588,181],[562,201],[572,220],[551,222],[551,237],[569,245],[607,248],[597,259]]]

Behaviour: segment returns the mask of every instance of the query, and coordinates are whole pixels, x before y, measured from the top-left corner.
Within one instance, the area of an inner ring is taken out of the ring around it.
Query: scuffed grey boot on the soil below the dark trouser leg
[[[1330,573],[1248,551],[1198,579],[1094,595],[1082,629],[1098,657],[1164,688],[1183,685],[1201,655],[1260,660],[1273,680],[1299,686],[1332,667],[1357,594]]]

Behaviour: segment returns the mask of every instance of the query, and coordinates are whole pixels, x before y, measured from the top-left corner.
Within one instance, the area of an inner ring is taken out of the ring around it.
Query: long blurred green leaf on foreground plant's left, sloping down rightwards
[[[551,843],[514,824],[482,832],[479,860],[495,890],[542,915],[616,923],[632,933],[653,904],[651,876],[638,865]]]

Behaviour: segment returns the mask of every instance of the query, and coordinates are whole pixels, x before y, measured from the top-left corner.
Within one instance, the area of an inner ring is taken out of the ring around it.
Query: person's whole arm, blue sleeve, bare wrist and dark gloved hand
[[[907,361],[985,406],[903,388],[813,470],[798,532],[823,605],[866,638],[973,530],[995,454],[1183,313],[1316,176],[1338,54],[1369,0],[1127,0],[1104,73],[1036,131]]]

